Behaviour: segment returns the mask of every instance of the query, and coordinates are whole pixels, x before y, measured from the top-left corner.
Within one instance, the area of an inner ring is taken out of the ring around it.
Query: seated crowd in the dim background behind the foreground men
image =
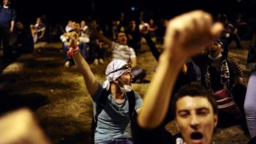
[[[1,60],[8,61],[20,54],[32,52],[34,44],[40,42],[62,42],[65,59],[63,67],[72,67],[75,62],[72,56],[67,55],[69,51],[67,36],[75,31],[79,36],[77,45],[84,60],[92,62],[93,65],[103,64],[107,50],[111,49],[113,60],[125,60],[135,67],[131,72],[134,77],[137,76],[138,81],[134,83],[140,82],[139,80],[145,77],[143,68],[136,65],[136,57],[141,54],[141,38],[146,39],[150,51],[158,61],[160,52],[155,44],[163,44],[169,20],[169,17],[152,16],[141,11],[136,17],[129,17],[128,12],[122,12],[118,19],[109,19],[109,22],[104,23],[99,21],[99,17],[88,17],[49,25],[47,17],[42,15],[36,18],[35,23],[24,26],[22,20],[16,20],[17,13],[9,8],[8,3],[8,0],[4,0],[4,6],[0,7],[0,51],[3,51]],[[223,24],[223,33],[211,45],[205,47],[202,54],[198,54],[184,64],[175,83],[177,88],[173,91],[194,81],[211,90],[214,95],[218,95],[216,92],[219,90],[229,90],[234,99],[232,101],[234,107],[230,107],[234,113],[227,116],[226,113],[223,114],[225,111],[223,113],[220,111],[220,124],[225,125],[229,122],[241,124],[244,133],[255,138],[256,108],[253,102],[256,92],[253,85],[255,85],[256,19],[248,13],[237,13],[235,17],[232,15],[232,18],[225,13],[213,16],[215,21]],[[15,42],[9,45],[10,36],[13,34],[16,36]],[[232,41],[236,42],[235,49],[244,49],[241,40],[251,40],[248,64],[253,71],[248,84],[244,81],[239,61],[228,60],[228,49]],[[120,45],[125,46],[122,47],[122,51],[118,50],[121,49]],[[167,115],[166,118],[170,120],[172,115]]]

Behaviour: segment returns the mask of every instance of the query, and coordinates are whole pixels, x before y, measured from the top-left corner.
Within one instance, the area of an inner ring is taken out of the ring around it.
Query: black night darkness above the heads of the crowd
[[[95,11],[92,10],[92,2]],[[67,20],[87,19],[95,15],[102,22],[118,19],[120,12],[139,13],[147,10],[152,16],[174,15],[190,10],[202,9],[211,13],[237,13],[246,11],[245,0],[12,0],[12,7],[17,10],[17,19],[25,23],[35,22],[36,17],[45,14],[52,23]],[[133,9],[132,9],[133,8]],[[132,11],[133,10],[133,11]]]

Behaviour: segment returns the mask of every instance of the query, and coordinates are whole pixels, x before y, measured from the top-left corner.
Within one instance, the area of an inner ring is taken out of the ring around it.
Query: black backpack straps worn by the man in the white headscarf
[[[95,134],[95,129],[97,127],[97,122],[98,122],[98,116],[101,113],[102,109],[104,108],[104,105],[106,104],[107,100],[108,100],[108,95],[109,95],[109,91],[106,91],[105,89],[103,89],[99,100],[97,102],[97,107],[96,107],[96,115],[93,116],[92,118],[92,128],[91,128],[91,138],[92,138],[92,144],[94,144],[94,134]],[[132,117],[133,114],[135,112],[134,106],[135,106],[135,94],[133,91],[131,92],[127,92],[126,93],[127,97],[128,97],[128,102],[129,102],[129,116],[131,118],[131,124],[132,124]]]

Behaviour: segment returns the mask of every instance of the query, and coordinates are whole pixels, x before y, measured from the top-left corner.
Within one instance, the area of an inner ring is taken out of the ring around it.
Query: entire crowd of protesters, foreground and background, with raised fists
[[[59,35],[65,58],[63,66],[76,65],[92,97],[92,143],[210,144],[214,128],[230,124],[241,125],[250,143],[255,143],[256,31],[248,54],[252,74],[246,84],[239,61],[228,59],[232,40],[237,49],[244,49],[244,45],[239,29],[227,15],[212,17],[196,10],[161,22],[153,18],[147,22],[141,15],[127,24],[124,13],[122,16],[112,21],[108,31],[100,28],[97,20],[69,20]],[[15,19],[10,0],[3,0],[0,39],[3,39],[4,60],[11,58],[13,52],[18,55],[32,52],[34,44],[47,40],[43,17],[38,17],[36,24],[28,29]],[[244,24],[241,17],[238,23]],[[17,40],[11,47],[9,39],[13,31]],[[145,38],[158,61],[143,99],[132,90],[132,83],[142,83],[146,76],[145,70],[137,65],[141,38]],[[156,48],[156,42],[163,44],[162,52]],[[100,84],[89,62],[96,66],[105,63],[107,50],[111,51],[112,61],[106,68],[106,81]],[[49,143],[28,109],[16,113],[24,118],[25,126],[8,129],[12,126],[8,121],[16,118],[15,113],[0,118],[0,128],[8,125],[0,129],[0,143]],[[179,131],[175,136],[164,129],[172,120]],[[38,140],[28,137],[31,127],[35,128]],[[2,136],[7,130],[20,133]]]

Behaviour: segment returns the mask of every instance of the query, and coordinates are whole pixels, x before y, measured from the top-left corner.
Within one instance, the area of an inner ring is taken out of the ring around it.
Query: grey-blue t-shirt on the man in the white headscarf
[[[96,115],[97,100],[102,93],[102,85],[99,84],[97,93],[93,95],[93,115]],[[142,106],[143,100],[138,93],[135,94],[134,109]],[[115,138],[132,138],[131,122],[129,116],[129,102],[125,94],[124,102],[118,103],[112,95],[108,95],[108,100],[98,116],[97,127],[95,130],[95,143],[100,141],[113,140]]]

